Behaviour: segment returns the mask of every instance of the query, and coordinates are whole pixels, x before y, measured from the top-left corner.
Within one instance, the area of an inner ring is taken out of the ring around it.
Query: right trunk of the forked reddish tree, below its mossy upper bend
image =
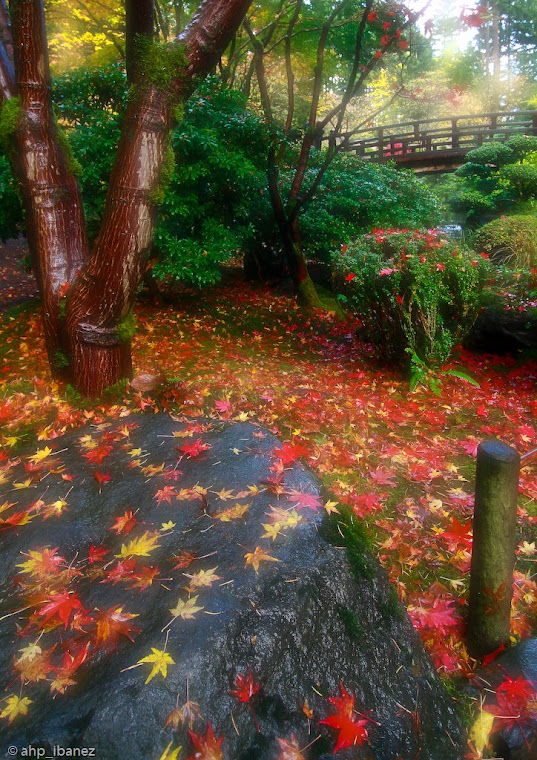
[[[155,86],[129,103],[101,229],[67,297],[74,382],[84,395],[131,376],[129,313],[151,246],[170,129],[169,98]]]

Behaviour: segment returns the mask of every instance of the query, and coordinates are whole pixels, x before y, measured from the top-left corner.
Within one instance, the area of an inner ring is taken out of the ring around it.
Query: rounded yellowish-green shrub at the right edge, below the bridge
[[[520,215],[494,219],[477,231],[475,248],[494,263],[531,269],[537,265],[537,219]]]

